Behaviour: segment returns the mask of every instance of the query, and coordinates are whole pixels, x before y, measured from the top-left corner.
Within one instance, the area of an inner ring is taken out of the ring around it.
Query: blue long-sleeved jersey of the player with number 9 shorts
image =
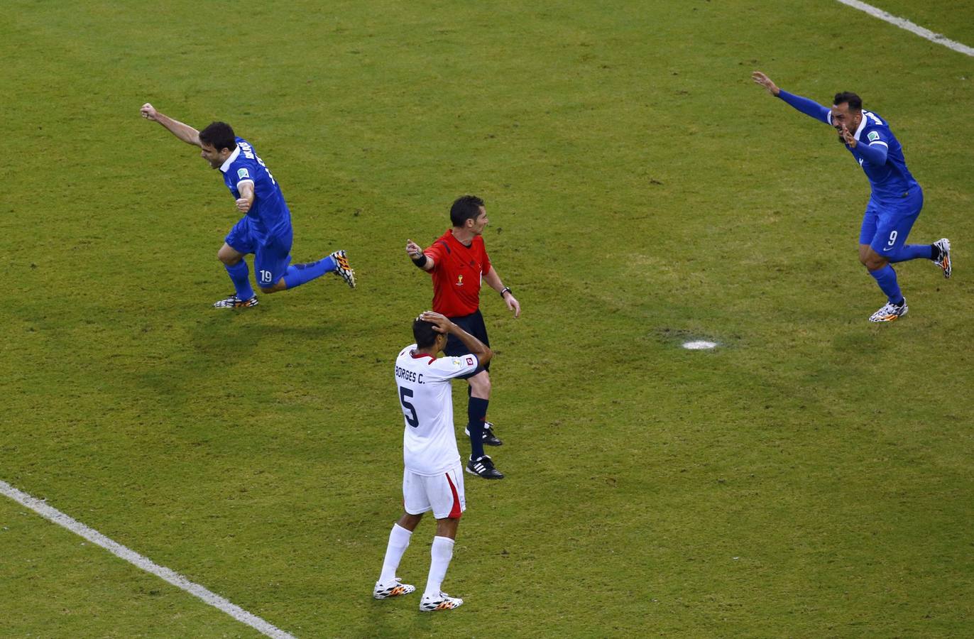
[[[795,107],[805,115],[811,116],[828,125],[832,125],[832,110],[822,106],[813,100],[801,95],[789,94],[780,91],[778,94],[782,100]],[[866,177],[869,178],[870,186],[873,189],[873,199],[880,203],[895,203],[906,197],[911,189],[919,185],[914,176],[907,169],[907,161],[903,157],[903,147],[899,140],[889,131],[889,126],[871,111],[862,111],[862,122],[852,133],[856,139],[856,147],[852,148],[848,144],[845,148],[849,150],[859,166],[862,167]],[[877,154],[880,147],[885,153]],[[873,151],[871,153],[871,151]],[[884,155],[882,162],[870,161],[869,157]]]

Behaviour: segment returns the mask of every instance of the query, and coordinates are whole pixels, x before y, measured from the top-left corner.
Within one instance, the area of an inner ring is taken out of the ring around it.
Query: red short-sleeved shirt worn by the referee
[[[473,238],[469,246],[460,244],[447,229],[423,251],[433,259],[432,310],[448,318],[469,315],[480,306],[480,278],[490,273],[490,258],[484,239]]]

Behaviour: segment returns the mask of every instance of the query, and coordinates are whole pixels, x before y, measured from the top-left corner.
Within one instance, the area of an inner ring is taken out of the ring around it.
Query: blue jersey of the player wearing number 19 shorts
[[[253,183],[253,204],[246,212],[250,233],[259,243],[290,233],[291,214],[284,202],[281,187],[250,143],[237,138],[237,148],[220,167],[223,181],[234,198],[240,198],[240,185]]]

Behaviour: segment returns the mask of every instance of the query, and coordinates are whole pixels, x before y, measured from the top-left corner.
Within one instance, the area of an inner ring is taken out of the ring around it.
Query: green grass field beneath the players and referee
[[[974,45],[972,4],[873,4]],[[298,637],[974,634],[974,58],[827,0],[2,13],[0,480]],[[955,245],[897,267],[905,319],[866,321],[861,170],[755,68],[903,142],[911,242]],[[253,142],[295,261],[358,289],[208,308],[233,201],[146,101]],[[464,193],[524,312],[482,298],[507,477],[468,475],[467,603],[424,616],[370,593],[431,300],[403,245]],[[257,633],[0,499],[0,636]]]

